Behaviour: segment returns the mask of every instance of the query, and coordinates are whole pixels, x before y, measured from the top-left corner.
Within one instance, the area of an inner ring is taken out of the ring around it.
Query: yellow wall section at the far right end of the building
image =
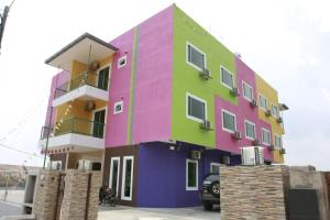
[[[270,85],[267,84],[263,78],[261,78],[258,75],[255,75],[255,80],[256,80],[256,90],[257,90],[257,99],[258,95],[262,94],[266,99],[267,99],[267,108],[272,109],[272,103],[278,107],[278,96],[277,91]],[[258,99],[260,101],[260,99]],[[260,102],[258,102],[260,106]],[[266,123],[270,123],[272,127],[272,139],[273,143],[275,143],[275,136],[274,134],[277,134],[282,136],[284,134],[284,129],[280,123],[276,121],[276,118],[273,116],[267,117],[265,114],[265,111],[263,109],[258,109],[258,117]],[[278,150],[274,151],[274,162],[276,163],[283,163],[284,157],[279,153]]]

